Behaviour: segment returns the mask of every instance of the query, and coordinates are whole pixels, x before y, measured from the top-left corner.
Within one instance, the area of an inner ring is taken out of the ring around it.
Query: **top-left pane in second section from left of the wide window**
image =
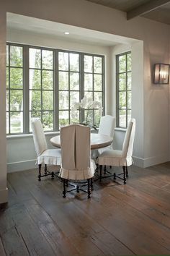
[[[41,50],[30,48],[29,49],[29,66],[32,68],[40,69],[41,67]]]

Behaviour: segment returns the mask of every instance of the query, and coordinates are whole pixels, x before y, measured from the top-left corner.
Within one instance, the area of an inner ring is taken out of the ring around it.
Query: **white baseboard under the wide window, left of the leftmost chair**
[[[36,160],[37,159],[22,161],[22,162],[15,162],[15,163],[7,163],[7,173],[37,168],[37,166],[35,165]]]

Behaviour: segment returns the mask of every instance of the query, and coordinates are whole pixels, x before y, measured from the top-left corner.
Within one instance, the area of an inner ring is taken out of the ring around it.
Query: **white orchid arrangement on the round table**
[[[89,111],[93,108],[99,109],[99,114],[100,114],[100,116],[102,116],[102,110],[103,110],[102,104],[99,101],[92,101],[91,98],[87,98],[86,96],[84,96],[84,98],[82,98],[81,102],[76,102],[73,104],[73,106],[71,108],[71,117],[72,118],[75,118],[75,111],[79,108],[84,108],[87,110],[86,120],[82,121],[80,124],[97,129],[96,124],[90,124],[90,122],[89,122]]]

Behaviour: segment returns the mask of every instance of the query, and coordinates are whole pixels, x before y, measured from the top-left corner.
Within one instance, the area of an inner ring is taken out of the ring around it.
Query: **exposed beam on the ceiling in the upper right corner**
[[[168,4],[170,1],[167,0],[151,0],[146,4],[141,4],[139,7],[131,9],[127,12],[127,20],[133,19],[134,17],[151,12],[158,7],[162,7],[164,4]]]

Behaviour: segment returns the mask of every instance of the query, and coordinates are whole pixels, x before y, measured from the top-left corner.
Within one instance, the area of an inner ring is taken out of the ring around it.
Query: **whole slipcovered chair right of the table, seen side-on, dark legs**
[[[135,138],[135,119],[131,119],[128,124],[127,131],[125,133],[125,139],[122,145],[122,150],[105,150],[99,155],[98,163],[100,166],[99,180],[114,176],[114,179],[118,177],[122,179],[121,174],[110,174],[108,176],[102,176],[102,166],[122,166],[123,169],[123,182],[126,184],[126,177],[128,177],[128,166],[133,163],[133,142]]]

